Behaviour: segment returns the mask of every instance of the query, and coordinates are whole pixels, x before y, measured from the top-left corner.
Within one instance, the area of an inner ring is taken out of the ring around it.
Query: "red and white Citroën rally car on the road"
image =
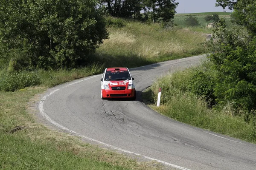
[[[130,98],[136,99],[136,90],[128,68],[106,68],[101,79],[102,99]]]

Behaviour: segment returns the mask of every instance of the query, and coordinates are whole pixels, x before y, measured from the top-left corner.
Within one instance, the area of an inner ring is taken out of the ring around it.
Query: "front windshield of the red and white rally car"
[[[128,71],[107,71],[105,80],[131,80]]]

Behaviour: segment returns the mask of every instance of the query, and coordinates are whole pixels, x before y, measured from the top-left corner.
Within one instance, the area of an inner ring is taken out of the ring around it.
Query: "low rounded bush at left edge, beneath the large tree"
[[[0,90],[16,91],[39,84],[41,84],[41,80],[34,72],[11,72],[3,75],[0,80]]]

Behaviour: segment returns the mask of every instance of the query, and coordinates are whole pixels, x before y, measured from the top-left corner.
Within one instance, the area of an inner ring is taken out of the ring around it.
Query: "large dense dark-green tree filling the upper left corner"
[[[0,40],[30,65],[73,67],[108,37],[94,0],[1,0]]]

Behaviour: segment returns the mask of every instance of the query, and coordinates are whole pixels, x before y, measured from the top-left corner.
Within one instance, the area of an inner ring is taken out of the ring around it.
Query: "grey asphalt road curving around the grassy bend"
[[[130,69],[138,99],[100,99],[96,75],[49,89],[41,114],[58,128],[108,147],[182,170],[256,170],[256,144],[166,118],[140,102],[156,77],[197,64],[204,56]]]

